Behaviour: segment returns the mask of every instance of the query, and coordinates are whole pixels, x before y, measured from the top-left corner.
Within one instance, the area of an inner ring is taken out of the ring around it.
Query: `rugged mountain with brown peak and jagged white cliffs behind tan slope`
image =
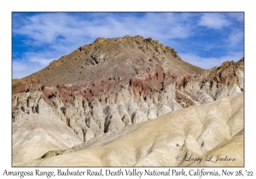
[[[13,135],[32,120],[55,118],[78,140],[91,141],[129,124],[241,93],[243,63],[226,61],[203,70],[151,38],[97,38],[43,70],[13,80]],[[55,149],[77,141],[66,144]]]

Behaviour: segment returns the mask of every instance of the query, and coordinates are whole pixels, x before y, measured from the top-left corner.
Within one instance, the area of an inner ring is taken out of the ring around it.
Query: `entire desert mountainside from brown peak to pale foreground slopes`
[[[13,80],[13,165],[243,165],[243,69],[203,70],[151,38],[97,38]],[[236,162],[175,160],[220,152]]]

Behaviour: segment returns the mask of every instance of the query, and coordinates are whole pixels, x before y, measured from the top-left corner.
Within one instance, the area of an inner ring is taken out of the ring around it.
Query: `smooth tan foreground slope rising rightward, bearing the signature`
[[[202,158],[214,147],[217,147],[212,152],[215,156],[222,154],[236,159],[236,162],[214,165],[243,165],[243,135],[237,135],[244,128],[243,93],[167,113],[137,125],[109,143],[98,141],[95,147],[16,165],[183,166],[191,163],[185,161],[186,156]],[[212,163],[203,159],[201,165]]]

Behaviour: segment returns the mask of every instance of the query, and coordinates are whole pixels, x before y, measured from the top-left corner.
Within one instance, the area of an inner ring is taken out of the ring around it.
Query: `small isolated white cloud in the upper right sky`
[[[230,21],[222,14],[205,13],[201,16],[198,25],[207,26],[208,28],[213,29],[221,29],[223,26],[230,26]]]

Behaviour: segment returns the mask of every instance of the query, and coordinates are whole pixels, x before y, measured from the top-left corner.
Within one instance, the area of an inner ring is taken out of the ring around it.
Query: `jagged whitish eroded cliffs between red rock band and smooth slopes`
[[[94,98],[92,101],[84,99],[83,95],[72,93],[69,101],[64,101],[65,96],[61,97],[61,94],[66,93],[63,91],[70,91],[68,88],[59,90],[44,86],[43,90],[20,93],[13,97],[13,122],[25,121],[26,118],[31,118],[31,113],[49,113],[46,108],[41,107],[40,99],[44,99],[51,108],[51,113],[86,141],[127,124],[137,124],[182,108],[173,99],[173,84],[146,96],[144,93],[135,95],[138,85],[133,85],[126,85],[105,99]]]

